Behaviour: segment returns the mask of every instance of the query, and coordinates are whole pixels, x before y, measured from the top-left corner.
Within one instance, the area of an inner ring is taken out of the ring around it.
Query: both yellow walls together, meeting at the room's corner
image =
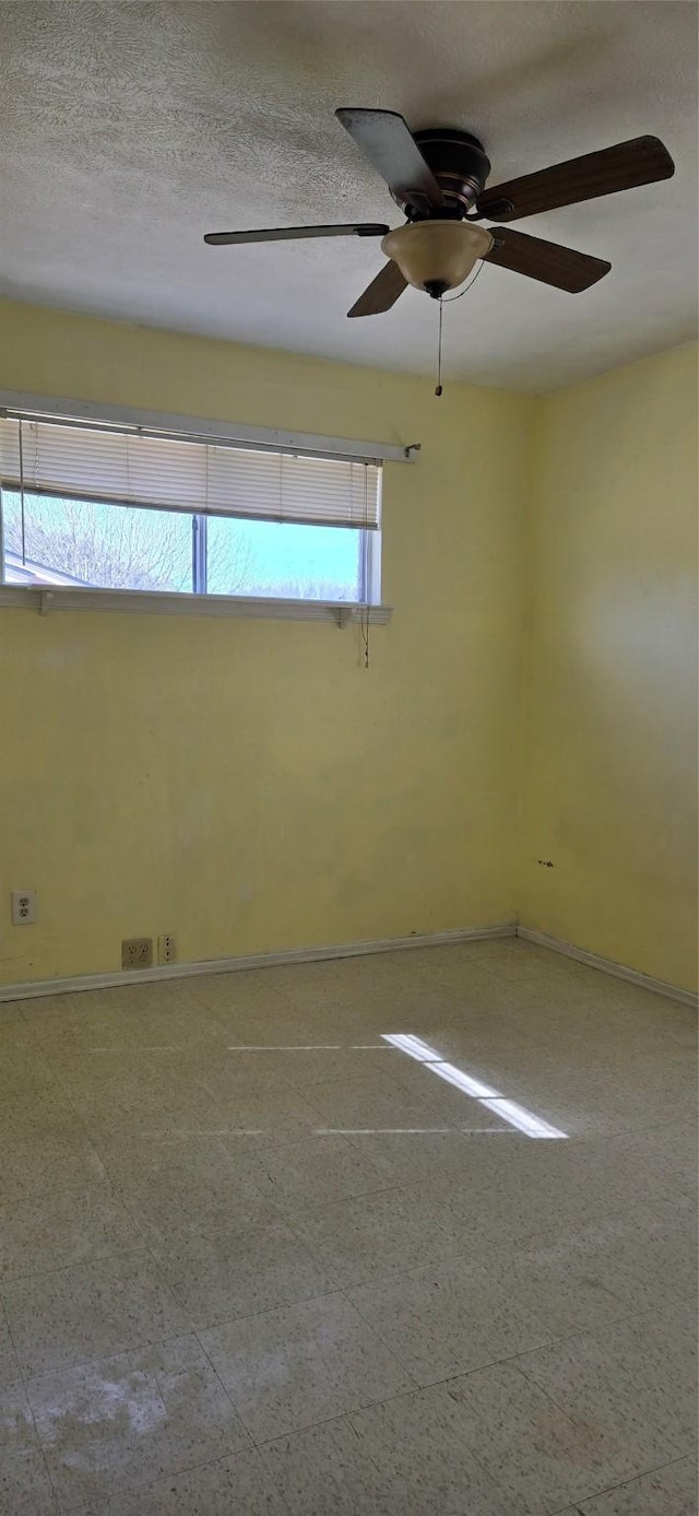
[[[0,387],[423,443],[385,470],[368,673],[355,628],[0,609],[0,982],[517,914],[696,982],[693,347],[435,400],[0,302]]]

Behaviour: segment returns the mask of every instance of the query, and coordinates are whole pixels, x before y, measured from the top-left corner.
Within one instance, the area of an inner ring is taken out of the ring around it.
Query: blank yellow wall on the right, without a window
[[[525,925],[688,988],[696,415],[693,346],[540,408],[520,879]]]

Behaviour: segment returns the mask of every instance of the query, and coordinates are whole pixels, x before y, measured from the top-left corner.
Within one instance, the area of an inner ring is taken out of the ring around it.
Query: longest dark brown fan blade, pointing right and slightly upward
[[[537,174],[523,174],[503,185],[485,190],[478,200],[482,215],[496,221],[517,221],[522,215],[556,211],[561,205],[578,205],[602,194],[635,190],[658,179],[672,179],[675,164],[657,136],[634,136],[629,143],[585,153],[566,164],[553,164]]]

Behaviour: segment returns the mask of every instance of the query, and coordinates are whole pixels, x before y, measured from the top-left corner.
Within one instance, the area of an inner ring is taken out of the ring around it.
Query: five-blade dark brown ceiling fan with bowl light
[[[657,183],[675,173],[657,136],[635,136],[487,190],[490,161],[470,132],[432,127],[412,133],[396,111],[343,109],[335,115],[388,185],[406,217],[403,226],[390,230],[376,221],[350,221],[208,232],[205,243],[220,247],[303,236],[381,236],[388,262],[347,311],[352,317],[388,311],[408,283],[440,300],[462,283],[478,258],[569,294],[588,290],[610,273],[611,264],[514,232],[505,223]],[[475,224],[484,217],[496,224]]]

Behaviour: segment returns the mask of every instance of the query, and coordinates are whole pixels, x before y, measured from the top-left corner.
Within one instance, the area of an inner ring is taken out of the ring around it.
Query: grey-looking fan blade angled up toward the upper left
[[[428,202],[432,208],[444,205],[440,185],[402,115],[361,109],[335,111],[335,115],[396,200],[417,206]]]

